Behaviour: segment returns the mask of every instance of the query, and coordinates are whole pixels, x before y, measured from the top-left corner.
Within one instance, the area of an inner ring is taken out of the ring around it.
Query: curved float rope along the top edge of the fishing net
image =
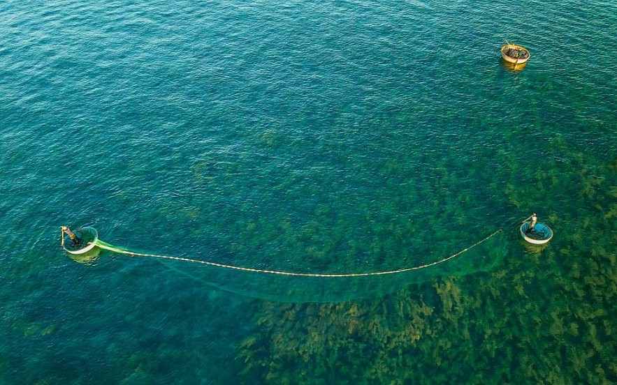
[[[435,262],[431,262],[430,264],[423,264],[423,265],[420,265],[420,266],[408,267],[406,269],[391,270],[391,271],[377,271],[377,272],[372,272],[372,273],[344,273],[344,274],[293,273],[293,272],[289,272],[289,271],[253,269],[253,268],[250,268],[250,267],[241,267],[241,266],[233,266],[233,265],[228,265],[228,264],[219,264],[217,262],[201,261],[199,259],[191,259],[191,258],[184,258],[184,257],[170,257],[169,255],[147,254],[147,253],[142,253],[142,252],[132,252],[132,251],[128,251],[128,250],[122,250],[120,248],[115,248],[113,246],[110,246],[110,245],[104,243],[103,241],[100,241],[99,239],[96,239],[95,242],[96,242],[96,246],[98,246],[99,248],[102,248],[102,249],[105,249],[105,250],[109,250],[111,252],[117,252],[119,254],[130,255],[131,257],[152,257],[152,258],[159,258],[159,259],[173,259],[173,260],[176,260],[176,261],[184,261],[184,262],[192,262],[192,263],[196,263],[196,264],[205,264],[205,265],[209,265],[209,266],[216,266],[216,267],[221,267],[223,269],[250,271],[252,273],[266,273],[266,274],[277,274],[277,275],[293,275],[293,276],[296,276],[296,277],[299,276],[299,277],[321,277],[321,278],[345,278],[345,277],[366,277],[366,276],[370,276],[370,275],[389,275],[389,274],[405,273],[407,271],[426,269],[427,267],[435,266],[437,264],[442,264],[444,262],[449,261],[450,259],[456,258],[459,255],[463,254],[463,252],[466,252],[466,251],[468,251],[468,250],[478,246],[479,244],[488,241],[488,239],[493,238],[493,236],[497,235],[500,232],[502,232],[502,229],[498,229],[496,232],[493,232],[493,234],[491,234],[489,236],[486,236],[486,238],[482,239],[481,241],[477,241],[472,246],[469,246],[469,247],[467,247],[467,248],[465,248],[463,250],[460,250],[459,252],[456,252],[456,254],[450,255],[447,258],[440,259],[440,260],[435,261]]]

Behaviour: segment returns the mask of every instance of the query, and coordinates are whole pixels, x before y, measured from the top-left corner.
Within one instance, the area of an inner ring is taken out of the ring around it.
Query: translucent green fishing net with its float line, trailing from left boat
[[[213,262],[199,256],[158,255],[114,246],[100,239],[96,246],[131,257],[150,258],[168,269],[213,287],[242,295],[280,302],[341,302],[382,296],[407,285],[439,276],[490,271],[505,256],[504,236],[498,230],[449,255],[423,255],[416,264],[400,269],[359,271],[283,271]],[[420,263],[418,263],[420,262]]]

